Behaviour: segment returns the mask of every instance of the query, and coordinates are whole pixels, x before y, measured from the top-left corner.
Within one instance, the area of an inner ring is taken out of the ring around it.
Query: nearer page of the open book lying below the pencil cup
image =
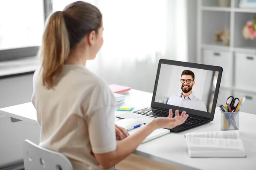
[[[186,143],[188,147],[207,147],[207,148],[227,148],[243,150],[243,143],[240,139],[219,139],[219,138],[201,138],[187,137]]]

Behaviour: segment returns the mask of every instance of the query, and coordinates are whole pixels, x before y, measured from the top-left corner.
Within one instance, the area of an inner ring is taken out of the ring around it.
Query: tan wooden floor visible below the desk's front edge
[[[151,159],[131,154],[125,160],[116,164],[119,170],[182,170],[180,168],[163,164]],[[22,169],[24,170],[24,169]]]

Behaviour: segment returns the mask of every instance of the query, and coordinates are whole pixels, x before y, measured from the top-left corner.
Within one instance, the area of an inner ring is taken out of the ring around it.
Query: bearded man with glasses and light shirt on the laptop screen
[[[194,72],[190,70],[182,71],[180,83],[182,90],[181,94],[171,96],[167,104],[207,112],[204,101],[196,97],[192,91],[192,88],[195,85]]]

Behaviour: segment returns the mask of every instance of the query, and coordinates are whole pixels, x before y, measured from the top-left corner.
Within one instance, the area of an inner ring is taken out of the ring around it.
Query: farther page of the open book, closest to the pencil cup
[[[187,133],[186,137],[239,139],[238,130]]]

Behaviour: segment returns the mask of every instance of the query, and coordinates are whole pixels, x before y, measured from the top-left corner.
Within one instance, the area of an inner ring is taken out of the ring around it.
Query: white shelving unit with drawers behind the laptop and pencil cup
[[[256,114],[256,40],[245,40],[242,29],[253,20],[256,9],[239,8],[239,0],[220,6],[219,0],[198,0],[197,62],[223,68],[218,101],[228,96],[246,97],[242,111]],[[214,40],[215,33],[227,28],[229,45]]]

